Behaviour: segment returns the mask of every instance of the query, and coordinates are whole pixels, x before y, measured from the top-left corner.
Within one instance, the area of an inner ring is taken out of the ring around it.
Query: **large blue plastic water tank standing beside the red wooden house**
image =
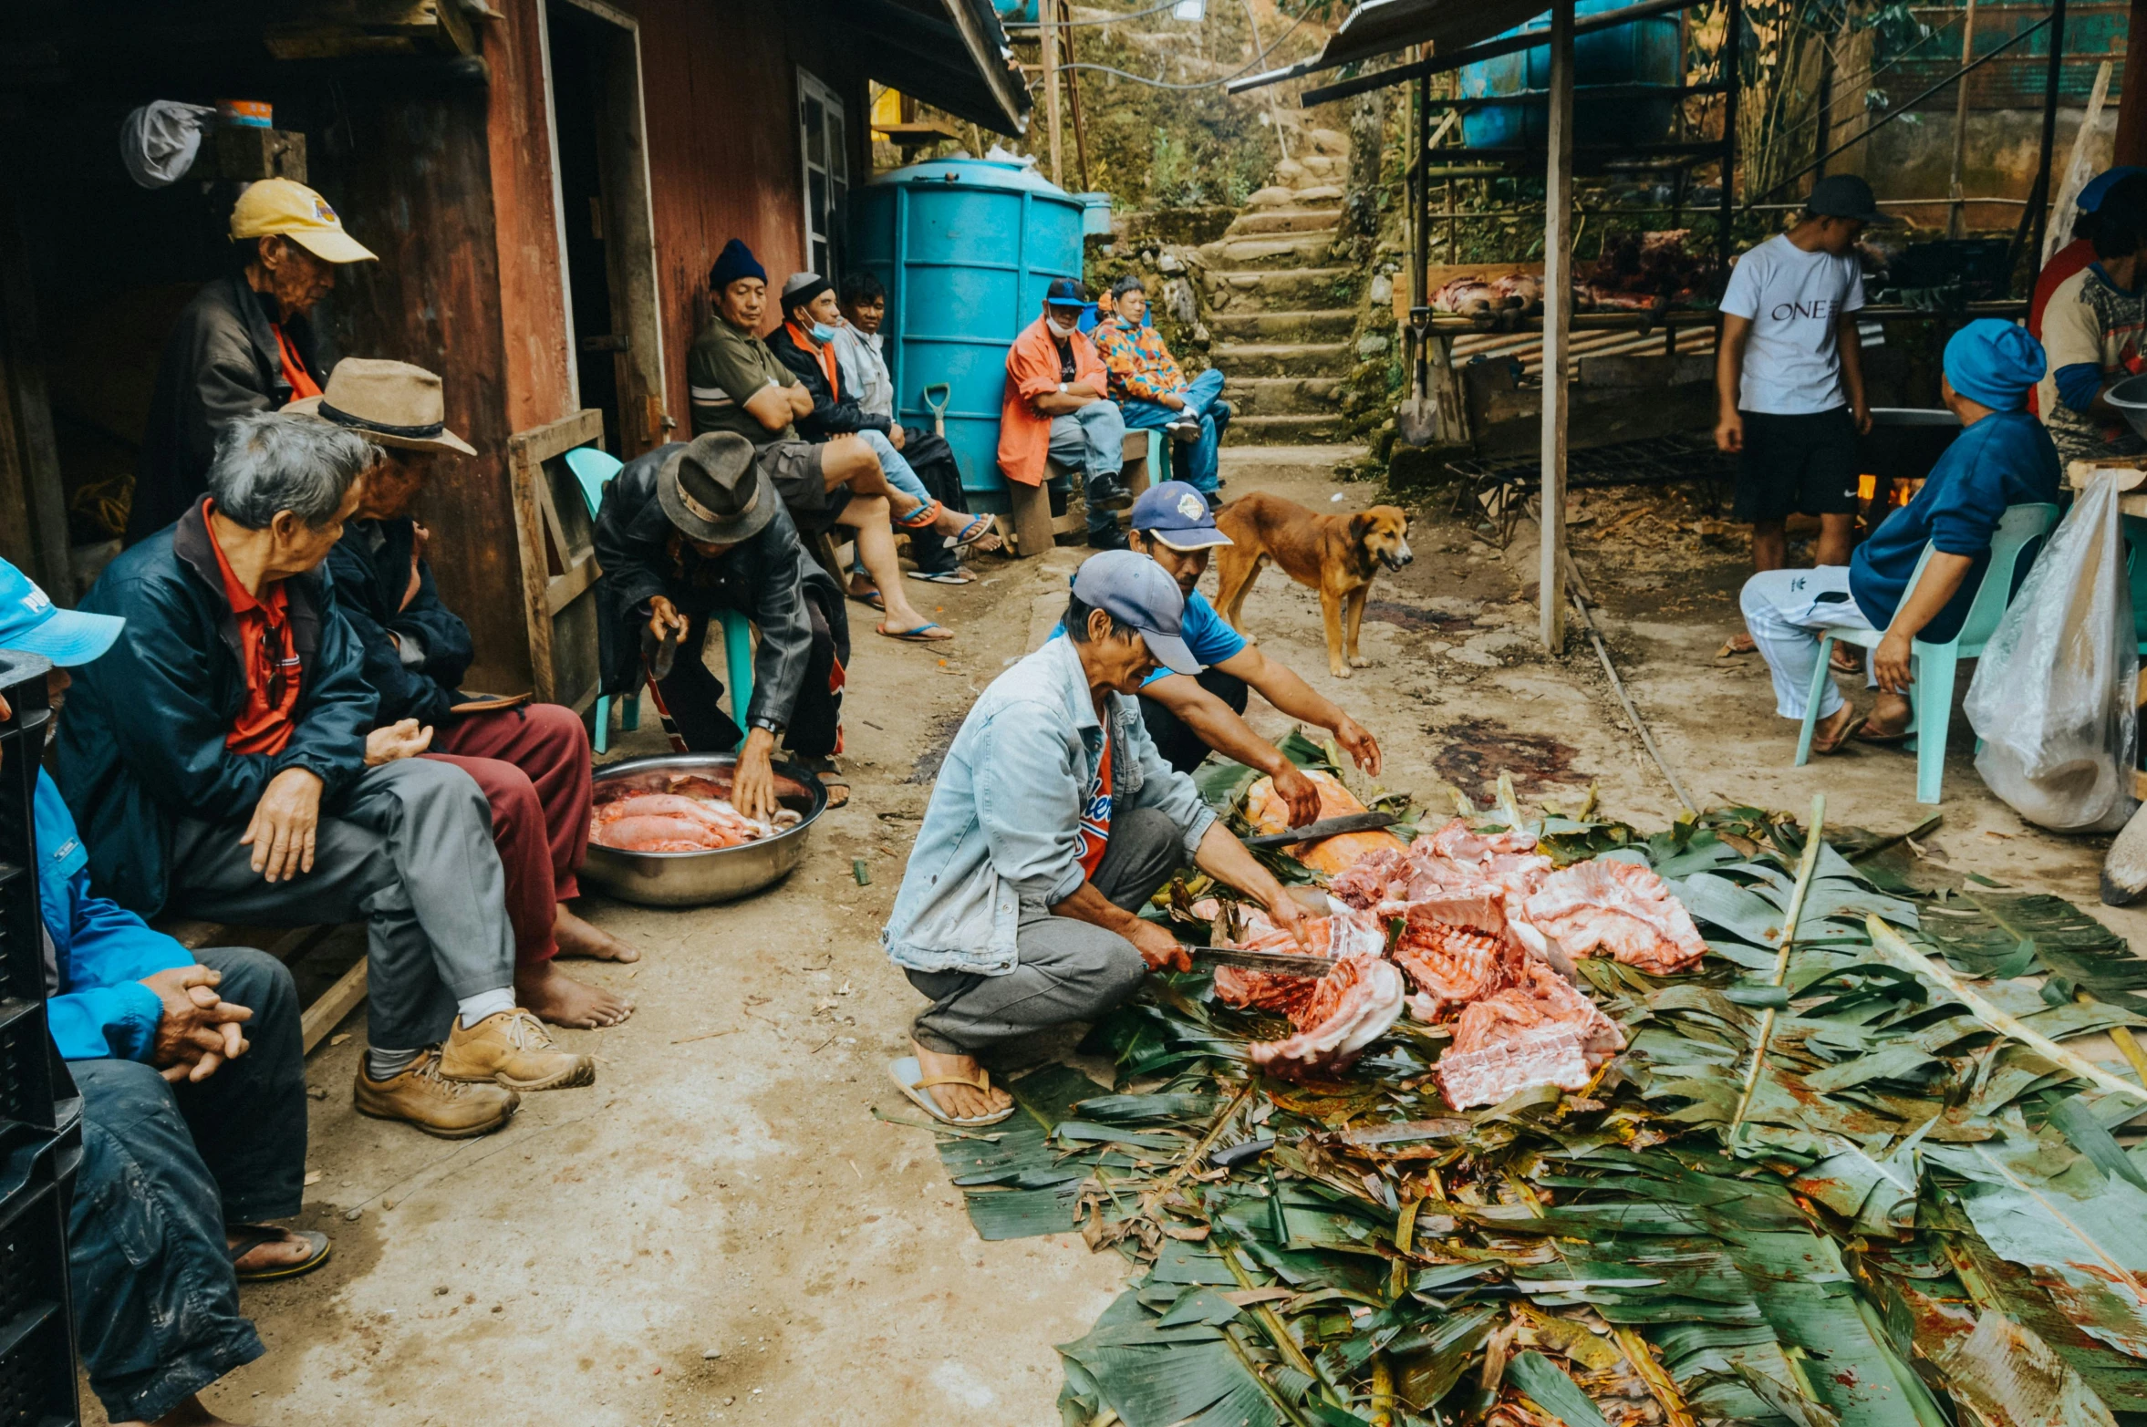
[[[895,421],[930,431],[925,388],[951,386],[947,444],[975,511],[1007,509],[1007,348],[1037,320],[1054,277],[1082,275],[1084,208],[1033,170],[983,159],[912,163],[850,191],[850,266],[887,288]]]

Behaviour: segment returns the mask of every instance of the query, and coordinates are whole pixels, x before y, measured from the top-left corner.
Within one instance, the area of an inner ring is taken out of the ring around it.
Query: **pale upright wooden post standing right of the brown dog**
[[[1735,19],[1735,15],[1733,15]],[[1574,0],[1550,6],[1550,155],[1544,167],[1544,648],[1565,652],[1565,391],[1574,311]]]

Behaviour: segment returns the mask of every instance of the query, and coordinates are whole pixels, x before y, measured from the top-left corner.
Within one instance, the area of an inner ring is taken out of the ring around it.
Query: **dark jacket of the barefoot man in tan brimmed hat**
[[[380,532],[374,547],[371,532]],[[350,631],[365,648],[365,682],[380,695],[380,723],[417,719],[440,727],[449,706],[462,702],[455,685],[470,672],[470,627],[440,603],[432,584],[432,560],[417,562],[419,588],[408,605],[410,547],[417,543],[417,521],[378,519],[350,521],[344,539],[328,551],[328,573],[335,575],[335,607],[350,620]],[[408,665],[395,639],[417,639],[425,659]]]

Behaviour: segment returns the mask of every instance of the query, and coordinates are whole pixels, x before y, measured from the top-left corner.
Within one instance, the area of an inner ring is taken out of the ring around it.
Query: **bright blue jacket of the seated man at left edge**
[[[58,959],[47,1002],[62,1060],[148,1060],[163,1002],[144,976],[193,955],[133,912],[90,893],[90,854],[52,777],[36,773],[36,897]]]

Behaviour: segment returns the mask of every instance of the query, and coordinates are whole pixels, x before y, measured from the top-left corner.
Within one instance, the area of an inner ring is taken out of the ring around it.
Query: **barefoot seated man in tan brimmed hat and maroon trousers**
[[[515,929],[515,1000],[554,1026],[616,1026],[633,1002],[563,974],[554,957],[638,961],[640,953],[569,910],[588,852],[588,734],[558,704],[487,706],[457,691],[470,627],[440,603],[412,506],[438,461],[477,455],[447,429],[440,378],[410,363],[350,356],[292,412],[356,431],[382,451],[359,509],[328,554],[335,601],[365,650],[378,723],[417,719],[425,757],[455,764],[492,805]],[[498,704],[496,700],[492,704]]]

